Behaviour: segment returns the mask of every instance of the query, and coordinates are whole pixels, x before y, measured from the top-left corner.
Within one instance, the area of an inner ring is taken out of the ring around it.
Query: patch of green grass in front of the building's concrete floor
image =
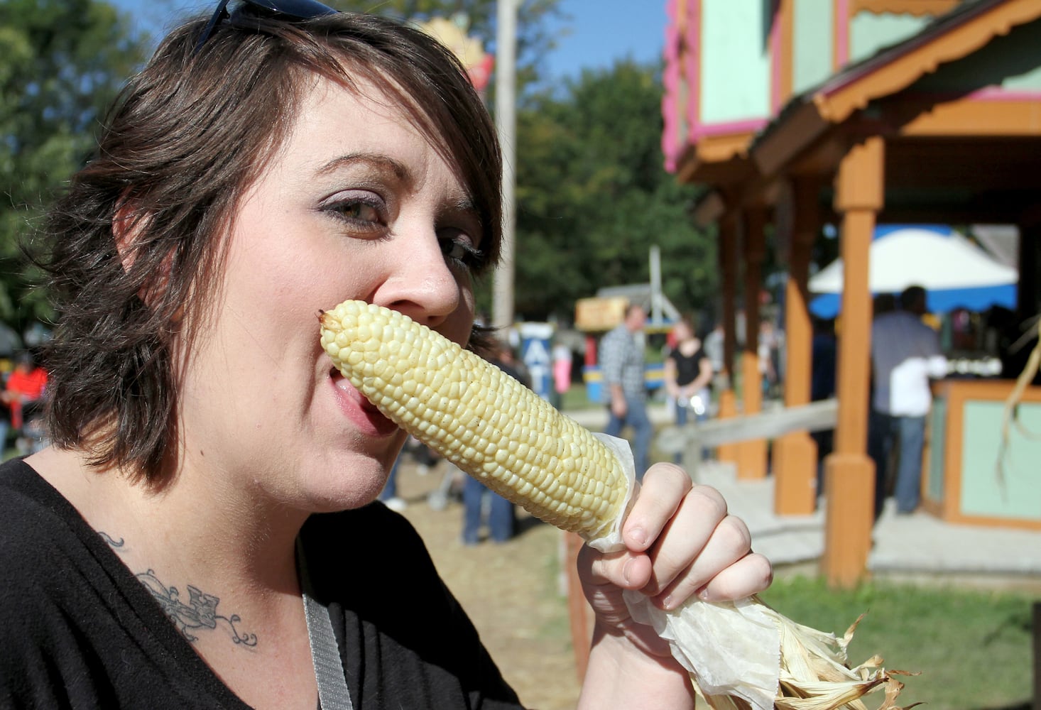
[[[777,580],[762,599],[792,620],[839,636],[867,612],[849,644],[849,664],[878,654],[887,668],[920,673],[903,679],[900,705],[1031,707],[1033,597],[888,583],[841,591],[796,577]]]

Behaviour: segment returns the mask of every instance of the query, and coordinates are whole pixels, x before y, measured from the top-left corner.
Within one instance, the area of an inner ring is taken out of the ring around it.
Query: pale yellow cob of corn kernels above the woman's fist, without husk
[[[322,314],[322,347],[388,419],[535,517],[594,539],[621,514],[615,456],[475,353],[361,301]]]

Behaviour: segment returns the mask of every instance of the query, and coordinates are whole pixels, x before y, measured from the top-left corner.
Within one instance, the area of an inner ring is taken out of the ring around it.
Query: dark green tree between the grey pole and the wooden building
[[[517,312],[567,319],[601,286],[646,283],[652,245],[665,295],[708,307],[715,244],[688,209],[695,188],[662,167],[660,74],[631,60],[529,97],[517,118]]]

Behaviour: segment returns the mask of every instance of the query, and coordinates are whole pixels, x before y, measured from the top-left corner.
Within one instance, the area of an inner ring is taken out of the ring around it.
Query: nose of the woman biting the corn
[[[398,242],[398,240],[395,240]],[[401,311],[431,328],[459,307],[460,283],[434,237],[396,245],[395,265],[377,288],[373,302]]]

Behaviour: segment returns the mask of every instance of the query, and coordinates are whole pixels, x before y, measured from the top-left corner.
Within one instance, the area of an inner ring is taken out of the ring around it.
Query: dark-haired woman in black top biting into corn
[[[499,251],[493,128],[417,31],[224,4],[130,81],[51,215],[53,445],[0,475],[0,706],[520,707],[374,503],[405,434],[332,372],[315,318],[364,299],[467,340]],[[581,706],[693,707],[623,590],[743,597],[769,564],[671,465],[626,539],[581,556]]]

